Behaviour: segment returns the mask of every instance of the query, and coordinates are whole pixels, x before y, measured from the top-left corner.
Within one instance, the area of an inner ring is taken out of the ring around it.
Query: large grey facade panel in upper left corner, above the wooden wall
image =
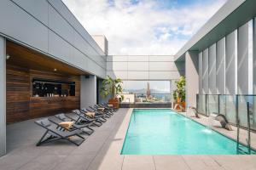
[[[8,16],[8,20],[6,20]],[[1,1],[0,32],[48,52],[48,29],[9,0]]]

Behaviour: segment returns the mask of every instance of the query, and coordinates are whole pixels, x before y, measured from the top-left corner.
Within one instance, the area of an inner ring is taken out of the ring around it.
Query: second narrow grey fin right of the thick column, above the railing
[[[203,51],[202,56],[202,82],[203,82],[203,94],[209,94],[209,59],[208,59],[208,48]]]

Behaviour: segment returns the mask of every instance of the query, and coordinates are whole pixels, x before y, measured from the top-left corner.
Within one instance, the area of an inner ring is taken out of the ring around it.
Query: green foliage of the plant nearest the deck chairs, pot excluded
[[[116,94],[122,93],[123,91],[122,83],[122,80],[119,78],[113,79],[107,76],[106,79],[103,80],[100,90],[102,97],[106,98],[110,94],[111,99],[115,99]]]

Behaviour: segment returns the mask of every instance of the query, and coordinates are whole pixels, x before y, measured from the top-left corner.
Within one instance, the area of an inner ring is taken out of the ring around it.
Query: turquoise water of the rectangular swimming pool
[[[237,151],[236,141],[172,110],[134,110],[121,154],[236,155]]]

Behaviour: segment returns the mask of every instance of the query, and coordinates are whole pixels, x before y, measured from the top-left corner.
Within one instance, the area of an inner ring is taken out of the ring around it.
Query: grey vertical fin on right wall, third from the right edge
[[[226,38],[226,58],[225,58],[225,93],[226,96],[225,113],[228,121],[236,123],[236,31],[231,32]]]

